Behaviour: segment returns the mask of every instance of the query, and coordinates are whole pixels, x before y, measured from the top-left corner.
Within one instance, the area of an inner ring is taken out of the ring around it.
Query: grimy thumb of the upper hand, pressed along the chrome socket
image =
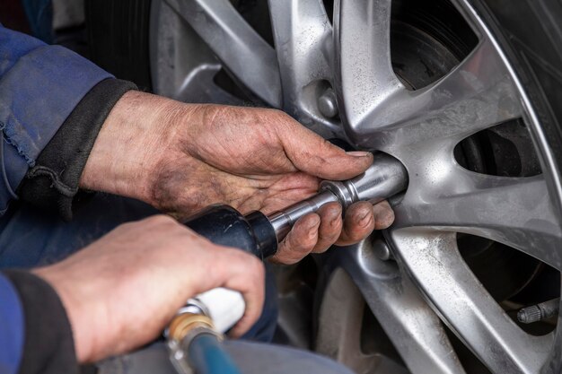
[[[371,152],[345,152],[304,126],[292,127],[278,127],[277,135],[298,170],[322,179],[344,180],[361,174],[373,163]]]

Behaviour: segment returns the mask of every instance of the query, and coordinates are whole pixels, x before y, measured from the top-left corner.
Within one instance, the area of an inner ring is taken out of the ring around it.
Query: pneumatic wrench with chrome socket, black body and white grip
[[[231,206],[215,205],[185,224],[215,244],[241,248],[264,260],[276,254],[277,244],[285,238],[294,222],[306,214],[317,212],[322,205],[337,202],[345,212],[350,204],[358,201],[376,204],[400,193],[407,186],[408,174],[400,161],[377,153],[373,165],[363,174],[346,181],[324,180],[317,195],[283,211],[269,216],[260,212],[244,216]],[[189,326],[214,326],[215,331],[222,334],[243,316],[244,309],[244,300],[237,291],[222,288],[206,291],[189,300],[187,306],[180,310],[168,328],[168,338],[178,346],[177,343],[189,335]],[[206,317],[204,322],[201,316]],[[195,325],[189,325],[189,321],[195,321]]]

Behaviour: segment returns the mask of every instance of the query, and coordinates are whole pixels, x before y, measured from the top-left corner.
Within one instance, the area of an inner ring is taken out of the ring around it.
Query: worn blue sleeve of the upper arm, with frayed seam
[[[66,48],[0,25],[0,140],[5,145],[0,149],[9,183],[0,178],[0,215],[10,201],[10,187],[19,186],[83,96],[110,77]]]

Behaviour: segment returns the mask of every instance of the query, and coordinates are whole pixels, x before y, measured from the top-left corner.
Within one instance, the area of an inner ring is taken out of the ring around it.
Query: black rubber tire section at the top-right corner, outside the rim
[[[562,2],[470,2],[502,45],[562,166]]]

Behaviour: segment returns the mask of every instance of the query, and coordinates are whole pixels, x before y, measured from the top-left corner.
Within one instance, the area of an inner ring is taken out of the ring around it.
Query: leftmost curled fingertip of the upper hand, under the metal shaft
[[[316,213],[307,214],[294,223],[285,239],[279,243],[272,262],[294,264],[312,252],[318,241],[321,218]]]

